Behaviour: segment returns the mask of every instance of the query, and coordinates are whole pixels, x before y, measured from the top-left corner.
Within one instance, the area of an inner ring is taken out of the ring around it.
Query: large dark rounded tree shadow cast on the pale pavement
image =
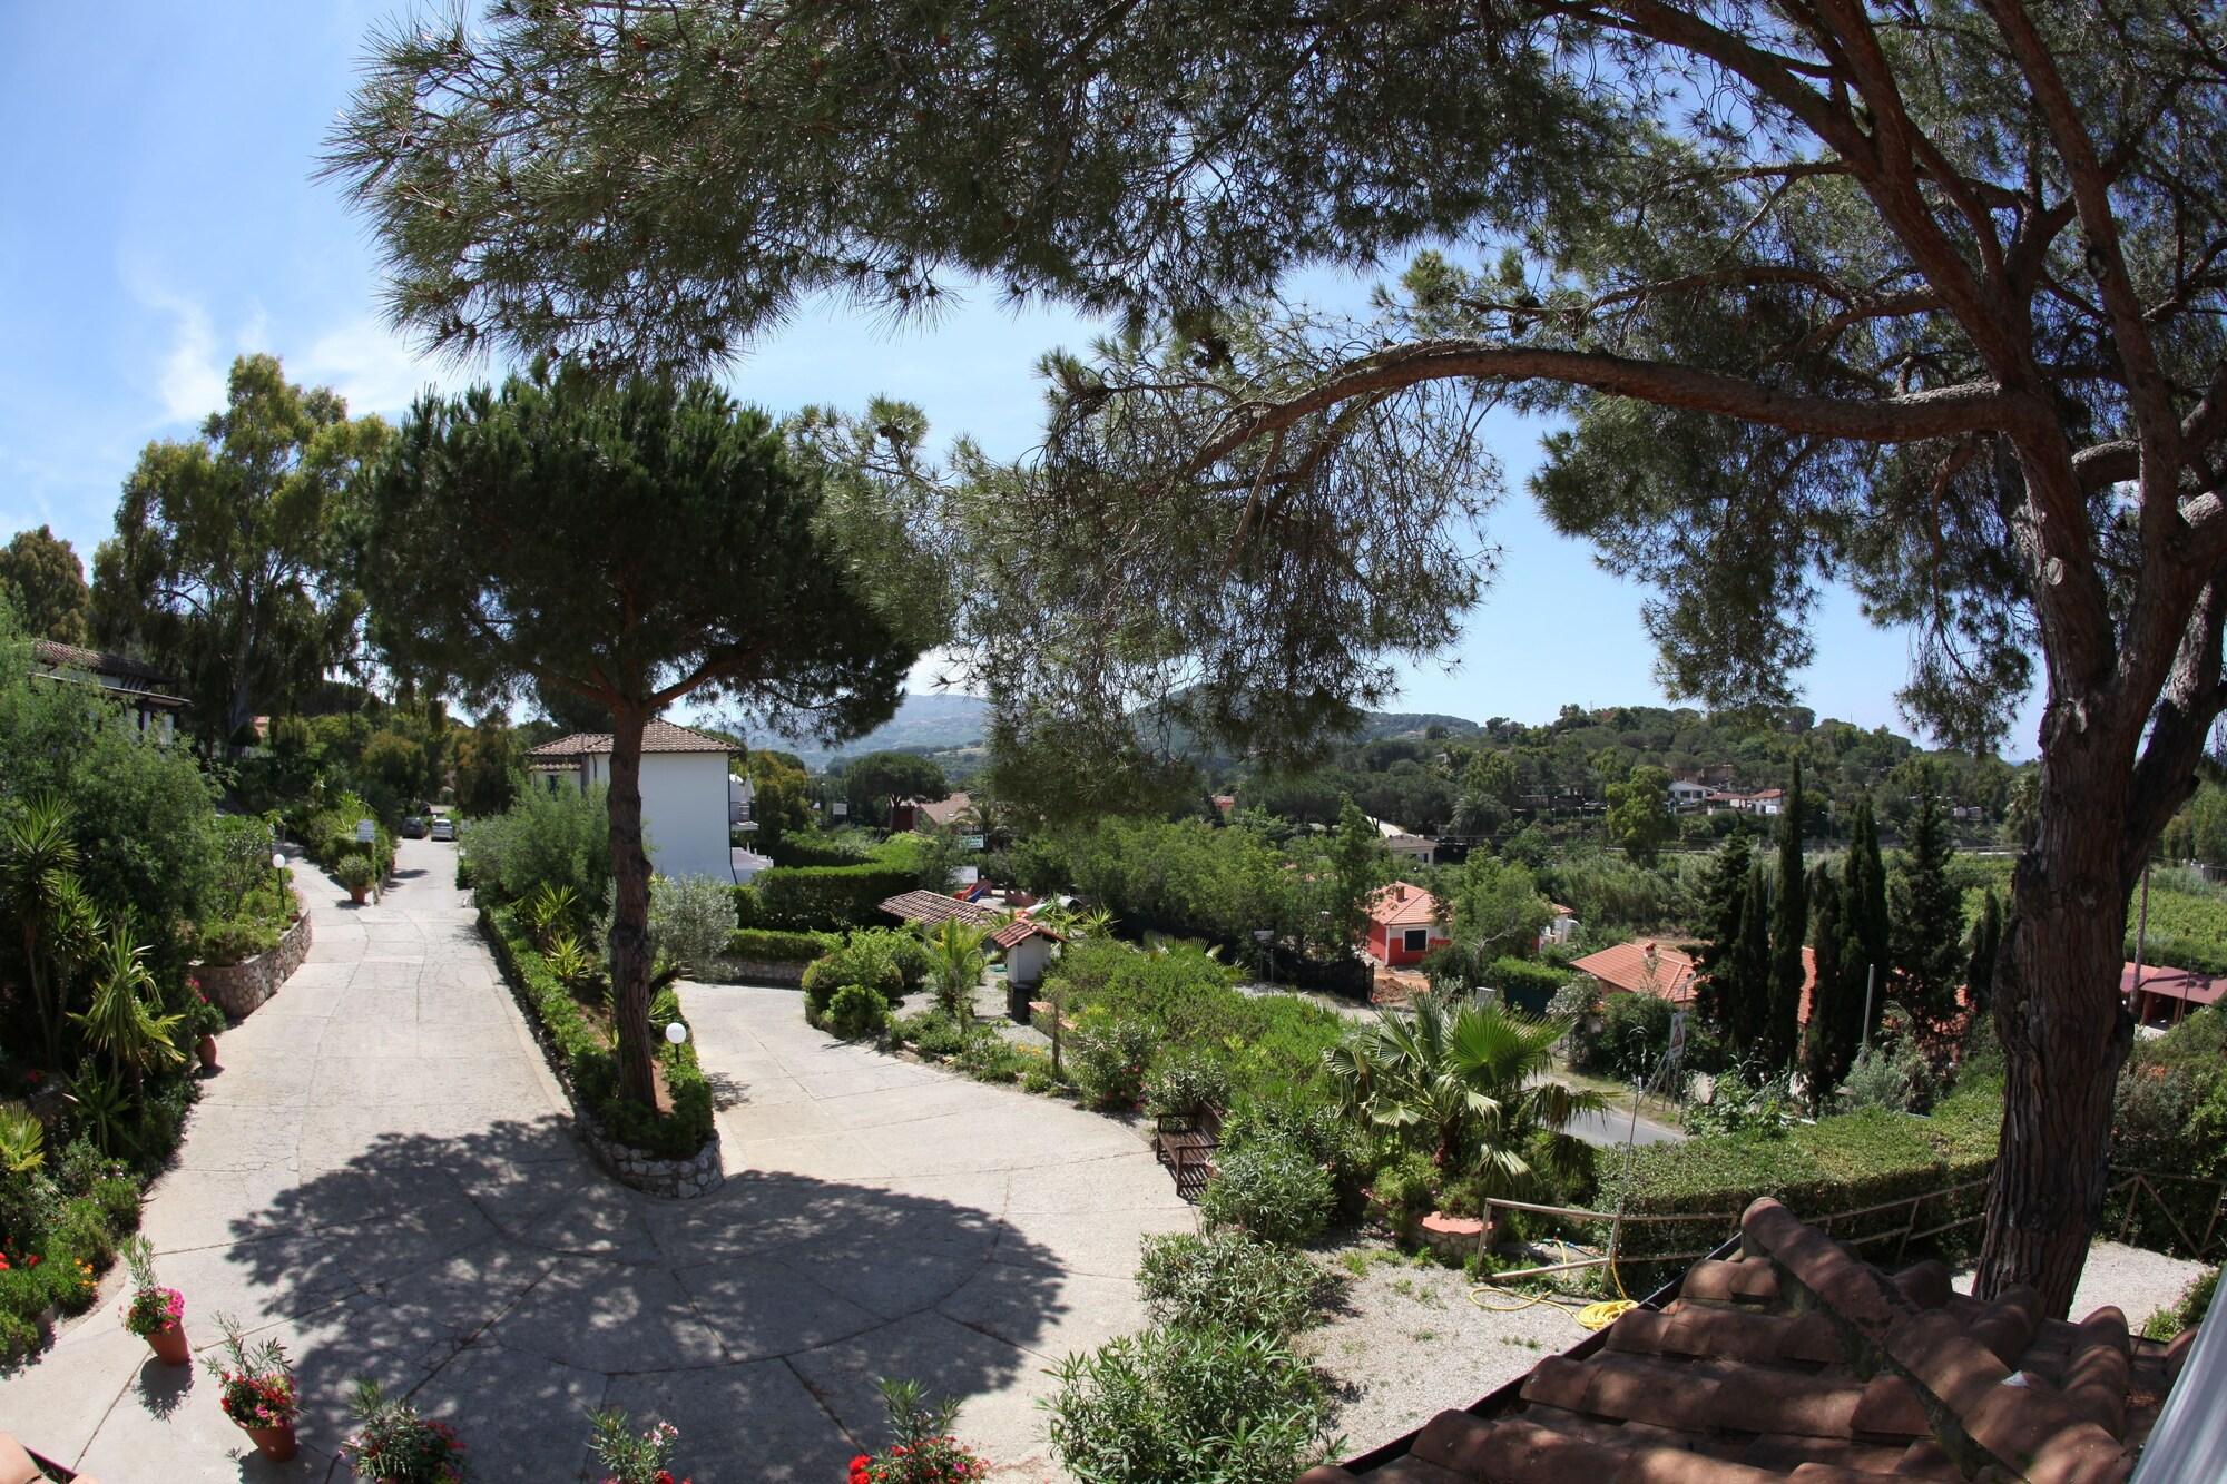
[[[677,1424],[697,1484],[842,1477],[882,1437],[875,1377],[1004,1393],[1067,1308],[1053,1252],[995,1212],[786,1174],[657,1201],[555,1116],[379,1136],[232,1237],[243,1317],[296,1357],[305,1444],[345,1435],[370,1377],[457,1424],[479,1480],[599,1477],[595,1406]],[[967,1324],[940,1312],[960,1290]]]

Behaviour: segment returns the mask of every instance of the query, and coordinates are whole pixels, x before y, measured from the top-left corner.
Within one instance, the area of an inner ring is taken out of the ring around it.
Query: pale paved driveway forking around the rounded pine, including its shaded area
[[[450,882],[403,842],[354,909],[303,871],[316,947],[223,1038],[143,1230],[187,1299],[281,1337],[303,1455],[276,1466],[198,1368],[102,1304],[0,1377],[0,1426],[105,1484],[341,1480],[354,1377],[454,1422],[479,1480],[583,1477],[586,1413],[681,1431],[697,1484],[840,1480],[880,1439],[875,1377],[964,1397],[1002,1480],[1053,1477],[1036,1397],[1060,1357],[1142,1324],[1147,1232],[1185,1208],[1136,1132],[808,1029],[793,992],[686,987],[728,1183],[621,1190],[586,1159]]]

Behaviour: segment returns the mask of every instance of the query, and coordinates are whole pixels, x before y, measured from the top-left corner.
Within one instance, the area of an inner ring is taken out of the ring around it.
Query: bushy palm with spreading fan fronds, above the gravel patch
[[[1441,1174],[1474,1170],[1483,1197],[1514,1197],[1537,1179],[1525,1154],[1534,1134],[1548,1134],[1557,1172],[1577,1172],[1583,1145],[1568,1125],[1608,1105],[1546,1076],[1566,1032],[1561,1021],[1425,994],[1412,1016],[1381,1014],[1323,1063],[1350,1119],[1394,1132]]]

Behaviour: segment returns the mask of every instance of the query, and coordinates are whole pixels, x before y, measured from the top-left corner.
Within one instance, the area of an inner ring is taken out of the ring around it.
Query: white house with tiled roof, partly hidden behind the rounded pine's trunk
[[[641,833],[659,876],[735,880],[728,844],[726,738],[673,722],[641,729]],[[526,767],[550,789],[610,787],[610,733],[577,731],[526,753]]]

